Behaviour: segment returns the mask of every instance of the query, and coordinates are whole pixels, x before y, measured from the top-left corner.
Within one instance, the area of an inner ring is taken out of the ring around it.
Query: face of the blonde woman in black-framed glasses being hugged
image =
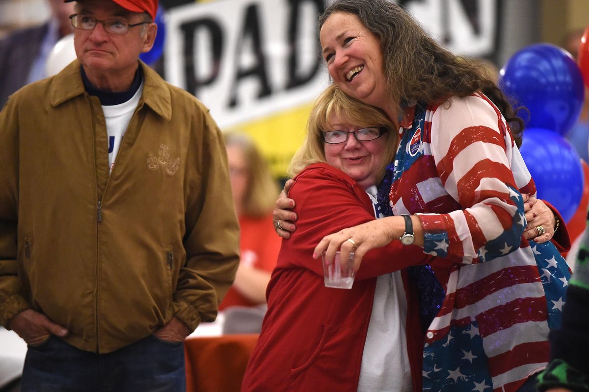
[[[338,118],[335,114],[329,116],[329,130],[345,130],[353,132],[360,128],[373,125],[352,125],[344,119]],[[382,167],[388,160],[386,143],[388,138],[380,137],[367,142],[359,142],[350,133],[348,140],[343,143],[324,143],[325,161],[337,167],[337,169],[348,173],[360,186],[368,189],[380,180]]]

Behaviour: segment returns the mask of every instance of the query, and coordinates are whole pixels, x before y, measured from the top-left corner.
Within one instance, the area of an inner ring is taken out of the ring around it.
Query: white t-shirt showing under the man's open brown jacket
[[[131,122],[131,117],[135,112],[135,108],[141,98],[143,92],[143,82],[135,92],[135,95],[131,97],[127,102],[120,103],[119,105],[102,106],[102,112],[104,113],[104,120],[107,123],[108,133],[108,166],[112,171],[115,160],[117,159],[118,149],[121,146],[121,140],[125,136],[127,127]]]

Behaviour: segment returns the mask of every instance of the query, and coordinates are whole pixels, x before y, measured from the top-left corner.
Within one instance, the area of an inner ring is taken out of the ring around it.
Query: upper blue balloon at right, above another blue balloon
[[[516,52],[499,72],[503,92],[530,110],[529,128],[565,135],[577,121],[584,99],[583,76],[571,55],[550,43]],[[518,115],[527,119],[524,110]]]

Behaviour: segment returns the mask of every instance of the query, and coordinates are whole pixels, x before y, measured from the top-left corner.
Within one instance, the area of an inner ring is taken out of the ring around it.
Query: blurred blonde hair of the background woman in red
[[[262,156],[253,139],[246,133],[223,133],[225,145],[237,146],[247,162],[247,189],[243,200],[243,213],[252,217],[263,217],[272,211],[280,192],[277,182],[270,175],[266,159]]]

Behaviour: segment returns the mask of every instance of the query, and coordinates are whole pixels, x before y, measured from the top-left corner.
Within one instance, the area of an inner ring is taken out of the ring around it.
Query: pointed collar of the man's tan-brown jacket
[[[140,61],[139,65],[144,77],[141,100],[155,113],[170,120],[172,118],[170,87],[157,72],[144,62]],[[55,106],[83,95],[85,92],[80,73],[80,62],[76,59],[54,76],[51,92],[49,92],[49,103],[55,108]]]

